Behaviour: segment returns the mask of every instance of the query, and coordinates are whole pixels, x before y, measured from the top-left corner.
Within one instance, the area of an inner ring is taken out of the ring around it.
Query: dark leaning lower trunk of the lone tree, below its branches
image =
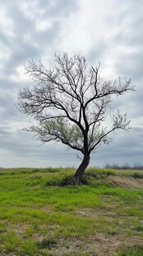
[[[82,175],[85,171],[85,168],[89,165],[89,163],[90,163],[90,154],[84,154],[84,158],[83,158],[79,168],[77,168],[76,173],[73,178],[74,185],[81,185]]]

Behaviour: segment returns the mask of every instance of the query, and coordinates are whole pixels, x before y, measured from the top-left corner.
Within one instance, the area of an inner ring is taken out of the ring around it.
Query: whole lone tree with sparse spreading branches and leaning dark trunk
[[[112,126],[103,126],[111,97],[134,88],[131,79],[100,78],[99,67],[87,69],[81,55],[71,58],[67,53],[55,55],[55,62],[56,66],[49,69],[41,61],[29,62],[25,70],[36,85],[18,93],[17,105],[22,113],[38,121],[38,126],[26,130],[34,132],[43,143],[60,141],[83,154],[73,178],[73,183],[80,185],[91,152],[101,143],[108,144],[111,141],[108,135],[113,131],[129,129],[127,115],[119,111],[112,116]]]

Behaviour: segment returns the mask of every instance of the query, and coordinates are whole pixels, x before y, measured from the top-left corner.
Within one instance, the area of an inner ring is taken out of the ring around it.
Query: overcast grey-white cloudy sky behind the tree
[[[41,145],[25,130],[33,124],[16,108],[17,93],[34,84],[24,66],[31,59],[53,64],[54,54],[84,55],[101,64],[104,78],[131,78],[136,92],[113,102],[127,112],[130,131],[100,145],[90,166],[143,164],[142,0],[0,0],[0,167],[77,167],[76,151],[60,143]]]

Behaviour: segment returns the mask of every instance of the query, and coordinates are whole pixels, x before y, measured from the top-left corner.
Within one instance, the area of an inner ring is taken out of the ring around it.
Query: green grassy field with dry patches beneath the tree
[[[143,255],[143,170],[0,169],[0,255]]]

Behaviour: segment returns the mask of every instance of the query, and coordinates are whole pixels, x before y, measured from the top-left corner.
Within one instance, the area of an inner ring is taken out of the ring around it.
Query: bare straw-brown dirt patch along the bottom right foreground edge
[[[141,244],[141,237],[134,238],[124,237],[122,235],[104,235],[98,233],[90,235],[85,239],[80,237],[75,239],[59,239],[58,246],[50,250],[50,255],[54,256],[113,256],[116,255],[119,248],[124,244],[132,246],[133,244]]]

